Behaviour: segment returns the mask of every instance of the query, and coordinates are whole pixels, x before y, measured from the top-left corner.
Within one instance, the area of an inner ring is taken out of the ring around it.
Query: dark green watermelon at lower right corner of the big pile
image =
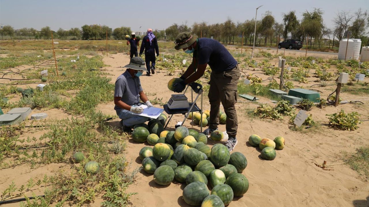
[[[225,184],[231,186],[235,197],[242,196],[249,189],[249,180],[241,173],[230,175]]]

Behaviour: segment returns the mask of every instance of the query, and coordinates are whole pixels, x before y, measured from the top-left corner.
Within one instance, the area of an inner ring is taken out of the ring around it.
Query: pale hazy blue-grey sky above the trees
[[[70,29],[88,24],[107,25],[111,28],[131,27],[133,31],[146,31],[147,28],[165,29],[173,23],[192,26],[194,22],[206,21],[208,24],[224,22],[230,17],[234,22],[258,20],[265,11],[271,11],[277,22],[282,22],[282,13],[296,11],[297,18],[314,7],[324,11],[324,23],[332,27],[332,19],[339,10],[352,13],[362,8],[369,10],[369,0],[0,0],[0,24],[12,25],[15,29],[23,27],[41,29],[49,26]]]

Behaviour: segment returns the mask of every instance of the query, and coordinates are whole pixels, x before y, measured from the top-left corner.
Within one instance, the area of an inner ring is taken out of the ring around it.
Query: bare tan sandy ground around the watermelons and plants
[[[268,50],[270,53],[276,51]],[[280,53],[280,51],[279,51]],[[287,51],[286,55],[294,54],[293,51]],[[304,54],[303,54],[304,55]],[[332,58],[332,56],[312,54],[313,56]],[[114,57],[114,58],[111,58]],[[259,58],[262,60],[265,58]],[[127,54],[114,54],[104,57],[104,62],[109,65],[104,67],[111,74],[111,82],[125,71],[122,67],[129,63]],[[276,62],[276,61],[275,61]],[[244,69],[245,74],[251,74],[258,71],[253,69]],[[260,70],[260,69],[256,69]],[[144,91],[148,94],[149,99],[162,98],[162,102],[169,100],[170,92],[167,88],[168,81],[176,76],[166,76],[165,71],[156,71],[151,76],[142,76],[141,83]],[[261,75],[263,80],[268,76]],[[243,80],[244,77],[241,77]],[[308,78],[313,80],[314,78]],[[316,79],[316,78],[315,78]],[[321,97],[326,98],[328,94],[334,91],[334,81],[329,87],[317,88],[323,94]],[[263,83],[264,84],[264,83]],[[265,83],[267,84],[267,83]],[[295,83],[297,86],[305,88],[315,84]],[[187,93],[187,97],[191,97]],[[360,95],[352,95],[342,93],[343,99],[368,99]],[[269,99],[261,98],[259,102],[265,102],[273,105]],[[361,114],[361,119],[369,118],[369,101],[363,101],[364,105],[345,104],[338,107],[327,106],[323,109],[314,107],[312,111],[314,120],[321,123],[328,123],[325,114],[335,113],[341,109],[345,112],[357,111]],[[198,105],[200,101],[197,102]],[[155,105],[160,107],[159,105]],[[369,182],[363,179],[355,171],[342,163],[339,159],[342,151],[354,152],[355,148],[365,144],[369,144],[369,122],[363,122],[359,125],[359,129],[355,131],[342,131],[331,129],[327,126],[321,126],[316,129],[304,130],[302,132],[293,131],[292,126],[288,124],[288,118],[284,120],[269,120],[250,117],[247,111],[255,109],[258,106],[255,102],[249,102],[246,99],[239,98],[236,104],[238,113],[238,145],[234,151],[242,152],[247,160],[248,166],[242,172],[249,180],[249,190],[242,196],[234,198],[230,203],[230,207],[257,207],[257,206],[321,206],[321,207],[368,207],[369,206]],[[105,114],[114,117],[110,121],[112,126],[118,126],[119,119],[113,110],[114,103],[101,103],[97,109]],[[210,109],[208,103],[207,92],[203,95],[203,108]],[[37,111],[39,112],[39,111]],[[50,118],[67,116],[62,110],[50,109]],[[62,116],[61,116],[62,115]],[[168,125],[169,130],[174,130],[174,126],[178,121],[182,121],[182,115],[173,116]],[[190,120],[184,123],[186,127],[192,127]],[[225,131],[225,125],[220,125],[220,130]],[[200,127],[194,126],[194,129],[200,131]],[[43,131],[42,133],[44,133]],[[32,136],[35,131],[23,136]],[[39,132],[41,133],[41,132]],[[276,136],[283,136],[286,140],[286,147],[277,151],[277,157],[273,161],[266,161],[260,158],[260,151],[251,147],[248,143],[248,137],[251,134],[258,134],[262,138],[274,139]],[[139,150],[147,144],[137,144],[131,140],[127,140],[127,149],[125,151],[127,159],[131,160],[131,169],[139,168],[141,160],[138,158]],[[208,142],[211,147],[215,143]],[[335,164],[331,166],[330,171],[325,171],[315,165]],[[36,170],[29,169],[29,166],[20,165],[15,168],[3,169],[0,171],[0,191],[2,192],[12,180],[16,180],[17,185],[27,182],[30,176],[42,177],[44,173],[55,172],[56,169],[63,167],[62,164],[52,164],[41,166]],[[20,172],[14,174],[14,172]],[[21,176],[19,176],[21,175]],[[187,207],[182,199],[182,190],[184,185],[173,182],[169,186],[159,186],[153,181],[153,176],[141,171],[137,174],[137,180],[128,188],[128,192],[136,192],[132,196],[131,206],[134,207],[151,207],[151,206],[182,206]],[[92,203],[91,206],[100,206],[100,199]],[[4,206],[18,206],[18,204],[9,204]]]

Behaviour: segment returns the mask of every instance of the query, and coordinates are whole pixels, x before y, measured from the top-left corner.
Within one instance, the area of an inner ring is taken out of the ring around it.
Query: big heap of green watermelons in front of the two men
[[[230,154],[220,143],[210,148],[206,135],[196,130],[184,126],[160,130],[159,122],[150,122],[148,129],[135,126],[132,138],[154,146],[143,147],[139,158],[158,185],[183,183],[183,200],[191,206],[226,206],[247,192],[249,182],[242,175],[247,160],[242,153]]]

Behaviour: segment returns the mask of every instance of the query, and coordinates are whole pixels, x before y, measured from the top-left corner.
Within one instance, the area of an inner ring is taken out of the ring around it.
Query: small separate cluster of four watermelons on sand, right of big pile
[[[276,137],[274,140],[268,138],[260,138],[257,134],[252,134],[249,137],[249,144],[253,147],[259,147],[261,150],[261,158],[273,160],[277,154],[275,149],[282,150],[284,148],[284,138]]]

